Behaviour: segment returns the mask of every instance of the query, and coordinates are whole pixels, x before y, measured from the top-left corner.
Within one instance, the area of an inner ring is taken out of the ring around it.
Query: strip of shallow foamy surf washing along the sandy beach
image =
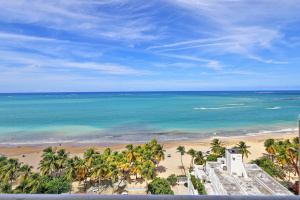
[[[11,139],[2,140],[0,142],[1,147],[15,148],[15,147],[48,147],[48,146],[73,146],[73,147],[84,147],[84,146],[116,146],[126,144],[141,144],[147,143],[152,138],[156,138],[160,143],[178,143],[178,142],[195,142],[202,140],[218,139],[236,139],[236,138],[251,138],[251,137],[267,137],[272,135],[286,135],[286,134],[297,134],[298,127],[280,127],[273,130],[267,129],[253,129],[253,130],[228,130],[228,131],[217,131],[214,133],[188,133],[188,132],[161,132],[161,133],[149,133],[149,134],[124,134],[124,135],[82,135],[78,137],[67,136],[66,139],[58,141],[51,141],[53,138],[39,138],[36,141],[27,139],[25,141],[17,142],[18,138],[12,135]],[[14,138],[15,137],[15,138]],[[132,138],[132,140],[130,140]],[[14,141],[16,140],[16,141]],[[68,141],[69,140],[69,141]],[[28,142],[32,141],[32,142]],[[47,142],[44,142],[47,141]]]

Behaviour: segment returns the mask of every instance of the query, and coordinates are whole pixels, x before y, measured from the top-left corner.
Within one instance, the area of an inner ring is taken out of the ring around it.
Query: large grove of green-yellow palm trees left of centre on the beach
[[[71,193],[74,181],[83,181],[84,186],[88,179],[98,185],[103,182],[121,183],[130,175],[153,180],[157,174],[155,163],[158,166],[164,160],[164,152],[156,139],[142,146],[129,144],[122,152],[107,148],[100,154],[97,149],[89,148],[83,158],[70,158],[65,149],[47,147],[43,150],[38,173],[33,173],[32,166],[23,165],[16,158],[1,157],[0,193]],[[14,190],[13,182],[17,184]]]

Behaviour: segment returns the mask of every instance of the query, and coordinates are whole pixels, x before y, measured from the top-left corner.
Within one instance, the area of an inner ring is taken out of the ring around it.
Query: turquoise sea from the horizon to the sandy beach
[[[284,133],[299,113],[300,91],[0,94],[0,145]]]

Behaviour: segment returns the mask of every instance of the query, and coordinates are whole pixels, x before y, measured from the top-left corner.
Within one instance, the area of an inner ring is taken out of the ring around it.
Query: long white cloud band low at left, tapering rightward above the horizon
[[[84,70],[93,77],[98,74],[108,75],[153,75],[158,72],[138,70],[129,66],[114,63],[95,63],[95,62],[72,62],[70,60],[52,59],[46,56],[30,53],[16,53],[0,51],[2,60],[2,75],[6,73],[39,73],[40,75],[58,74],[68,72],[68,74],[82,74]],[[96,74],[95,74],[96,73]],[[68,75],[67,74],[67,75]],[[33,74],[34,75],[34,74]]]

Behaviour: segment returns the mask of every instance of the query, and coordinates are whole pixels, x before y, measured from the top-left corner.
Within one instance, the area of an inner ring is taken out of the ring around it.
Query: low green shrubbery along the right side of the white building
[[[286,175],[285,172],[279,167],[276,166],[270,159],[267,157],[263,157],[261,159],[256,159],[252,161],[253,164],[257,164],[260,166],[265,172],[267,172],[270,176],[276,178],[283,179]]]

